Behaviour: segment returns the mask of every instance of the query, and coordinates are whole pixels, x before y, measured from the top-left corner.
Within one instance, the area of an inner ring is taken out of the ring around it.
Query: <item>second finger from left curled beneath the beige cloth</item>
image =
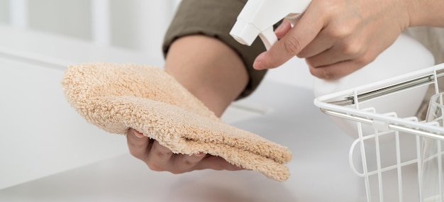
[[[148,157],[145,159],[146,164],[150,169],[155,171],[170,170],[172,165],[173,153],[167,147],[159,144],[159,142],[152,142],[151,150],[148,152]]]

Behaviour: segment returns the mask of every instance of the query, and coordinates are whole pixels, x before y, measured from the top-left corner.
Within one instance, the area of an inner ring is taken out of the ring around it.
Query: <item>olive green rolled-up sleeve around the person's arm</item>
[[[265,51],[262,42],[257,38],[249,47],[241,45],[229,34],[245,3],[246,0],[183,0],[165,34],[162,46],[164,55],[174,40],[185,35],[201,34],[218,38],[233,48],[243,60],[249,82],[238,99],[248,96],[260,84],[266,71],[252,68],[257,55]]]

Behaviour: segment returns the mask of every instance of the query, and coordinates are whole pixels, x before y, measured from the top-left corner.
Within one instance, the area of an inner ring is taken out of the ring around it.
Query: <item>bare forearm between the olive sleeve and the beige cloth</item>
[[[174,40],[165,69],[216,116],[221,116],[248,84],[248,72],[234,50],[205,35]]]

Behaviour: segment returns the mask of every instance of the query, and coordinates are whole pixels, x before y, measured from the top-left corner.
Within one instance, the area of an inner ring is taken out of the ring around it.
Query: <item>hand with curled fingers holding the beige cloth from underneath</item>
[[[200,169],[240,170],[221,157],[206,155],[173,154],[167,147],[163,147],[156,140],[152,140],[137,130],[130,128],[126,134],[128,148],[131,155],[145,162],[154,171],[167,171],[181,174]]]

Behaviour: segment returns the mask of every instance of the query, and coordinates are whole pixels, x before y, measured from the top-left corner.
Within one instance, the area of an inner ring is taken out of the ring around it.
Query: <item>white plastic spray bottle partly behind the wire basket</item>
[[[239,13],[230,34],[244,45],[251,45],[259,36],[267,50],[270,50],[270,47],[277,43],[273,25],[283,18],[288,19],[292,24],[296,23],[294,20],[304,13],[310,3],[311,0],[249,0]],[[431,52],[409,35],[401,33],[394,44],[384,50],[374,62],[352,74],[336,80],[315,78],[313,92],[315,96],[330,94],[363,84],[379,82],[416,69],[431,67],[433,64]],[[294,75],[294,79],[298,79],[297,77],[298,75]],[[417,89],[414,94],[392,96],[390,100],[372,102],[370,106],[376,108],[379,113],[396,111],[399,113],[398,116],[414,116],[425,93],[426,89]],[[399,104],[399,101],[403,103]],[[348,123],[343,119],[336,122],[347,133],[356,136],[354,123]]]

